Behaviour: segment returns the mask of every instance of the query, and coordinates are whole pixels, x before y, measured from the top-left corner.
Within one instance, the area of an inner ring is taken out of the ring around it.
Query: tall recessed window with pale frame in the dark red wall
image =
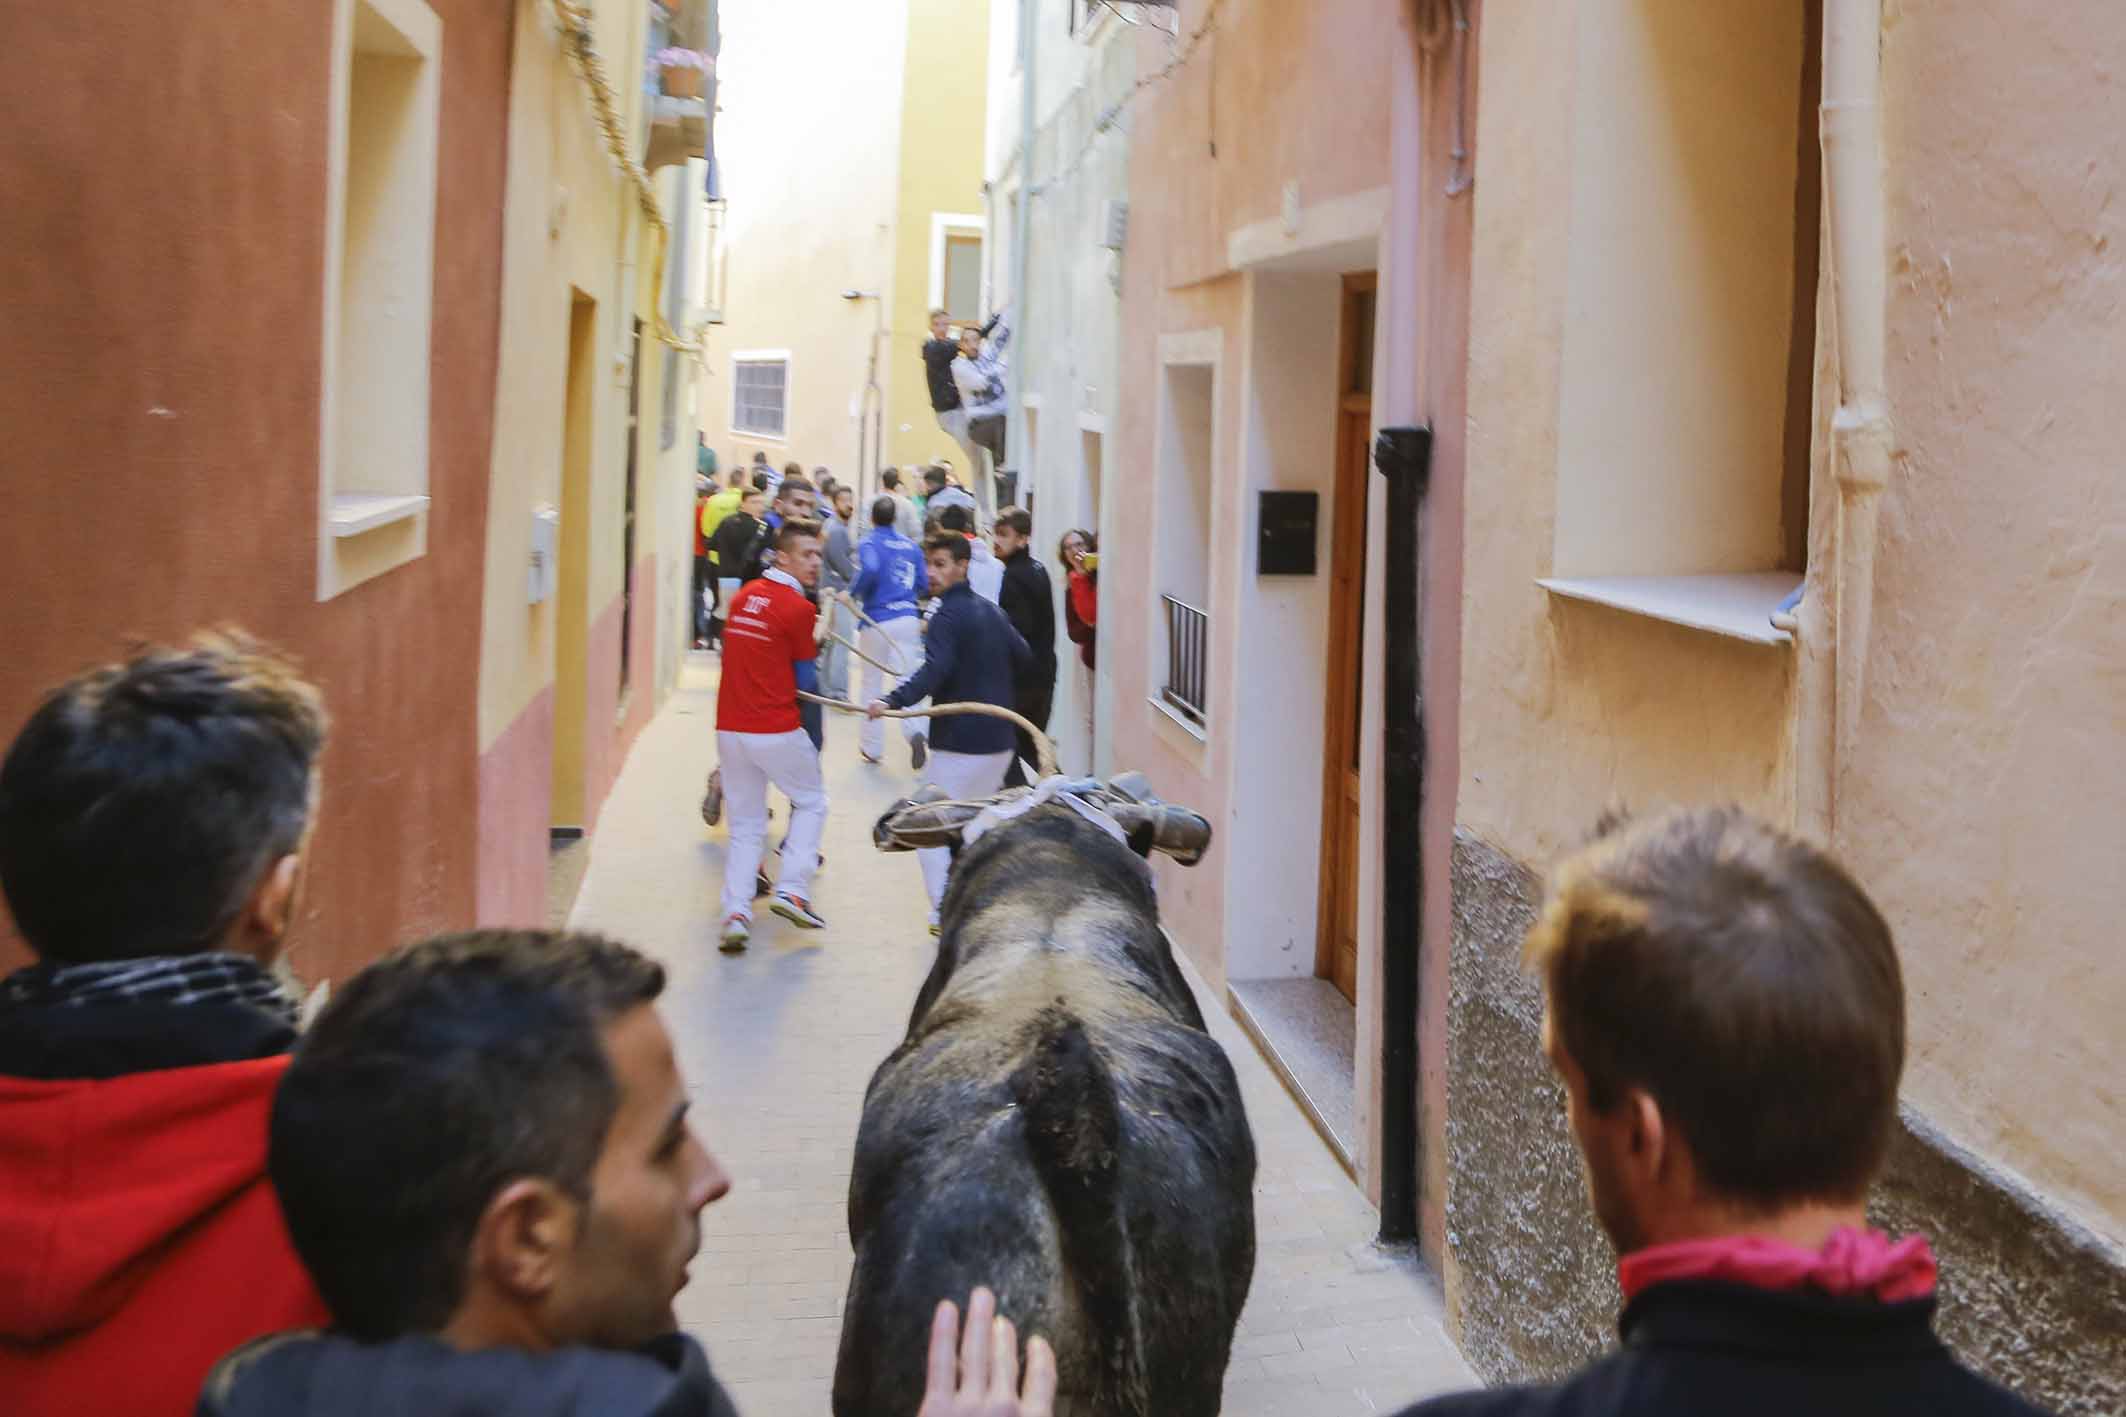
[[[325,198],[317,597],[427,550],[442,21],[338,0]]]

